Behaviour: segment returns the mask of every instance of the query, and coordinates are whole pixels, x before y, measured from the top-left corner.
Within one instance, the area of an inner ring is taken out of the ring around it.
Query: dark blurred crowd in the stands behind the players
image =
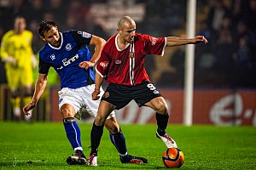
[[[35,54],[44,46],[41,20],[55,20],[60,31],[88,31],[108,40],[117,20],[130,15],[137,32],[154,37],[185,37],[186,0],[0,0],[0,38],[13,29],[16,15],[33,32]],[[208,45],[195,47],[195,88],[256,88],[256,0],[198,0],[196,34]],[[184,47],[148,56],[146,69],[159,88],[183,88]],[[6,83],[0,62],[0,82]],[[35,71],[37,73],[37,71]],[[56,82],[57,83],[57,82]]]

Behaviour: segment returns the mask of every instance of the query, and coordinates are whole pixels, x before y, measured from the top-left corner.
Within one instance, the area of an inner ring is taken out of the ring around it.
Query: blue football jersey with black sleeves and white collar
[[[82,61],[89,61],[91,34],[85,31],[66,31],[61,33],[61,46],[55,48],[45,44],[39,52],[39,73],[47,74],[54,67],[61,78],[61,88],[80,88],[95,82],[93,68],[79,67]],[[85,45],[85,46],[84,46]]]

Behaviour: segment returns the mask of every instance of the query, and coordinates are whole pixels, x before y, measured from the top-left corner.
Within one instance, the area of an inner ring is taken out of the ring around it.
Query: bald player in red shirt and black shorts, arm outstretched
[[[91,129],[91,152],[97,156],[97,148],[102,138],[104,122],[113,110],[119,110],[128,105],[132,99],[138,106],[148,106],[156,111],[156,137],[162,139],[168,148],[177,144],[166,133],[169,119],[166,100],[154,84],[150,82],[144,67],[147,54],[163,56],[166,46],[179,46],[207,43],[203,36],[193,38],[182,37],[151,37],[136,33],[136,23],[129,16],[123,16],[118,22],[118,33],[108,39],[102,49],[102,54],[96,65],[96,87],[92,99],[99,99],[103,80],[108,82],[108,88],[103,94],[98,108],[96,120]]]

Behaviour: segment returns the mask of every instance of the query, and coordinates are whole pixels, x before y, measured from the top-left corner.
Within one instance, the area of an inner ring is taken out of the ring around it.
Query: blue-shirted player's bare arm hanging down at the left
[[[47,77],[47,74],[38,74],[38,80],[35,84],[35,92],[33,94],[32,101],[22,108],[25,115],[29,115],[28,111],[32,110],[37,105],[38,99],[40,99],[41,95],[44,93]]]

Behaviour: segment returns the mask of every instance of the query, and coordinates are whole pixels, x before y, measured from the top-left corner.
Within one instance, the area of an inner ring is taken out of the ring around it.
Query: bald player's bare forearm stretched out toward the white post
[[[183,37],[167,37],[167,46],[180,46],[186,44],[195,44],[199,42],[207,43],[207,38],[203,36],[195,36],[193,38],[183,38]]]

